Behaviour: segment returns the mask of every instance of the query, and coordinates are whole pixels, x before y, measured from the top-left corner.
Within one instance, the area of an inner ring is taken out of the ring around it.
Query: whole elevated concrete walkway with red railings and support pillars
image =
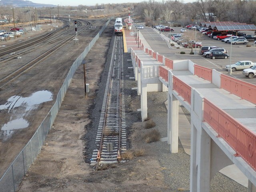
[[[208,192],[214,174],[232,164],[248,178],[248,191],[256,191],[256,87],[190,60],[173,61],[160,56],[145,45],[140,32],[138,36],[141,49],[134,50],[131,43],[127,50],[138,80],[142,119],[147,117],[146,93],[168,91],[167,140],[171,152],[178,152],[179,103],[191,114],[190,191]],[[186,133],[184,141],[188,140]]]

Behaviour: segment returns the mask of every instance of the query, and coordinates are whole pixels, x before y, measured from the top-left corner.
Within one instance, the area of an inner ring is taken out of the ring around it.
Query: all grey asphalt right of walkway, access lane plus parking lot
[[[181,28],[174,28],[174,32],[180,32]],[[187,33],[194,33],[194,30],[187,30]],[[158,52],[161,55],[166,56],[167,58],[170,58],[172,60],[183,60],[183,59],[190,59],[195,64],[198,64],[200,66],[205,66],[207,68],[216,69],[219,72],[222,72],[224,74],[228,75],[228,72],[224,69],[226,65],[234,64],[240,60],[251,60],[252,62],[256,62],[256,46],[253,44],[253,42],[250,42],[249,44],[252,45],[251,47],[246,47],[246,45],[230,45],[224,42],[221,42],[220,40],[215,40],[213,38],[209,38],[206,35],[200,34],[200,32],[197,32],[197,41],[202,42],[203,46],[218,46],[223,47],[228,51],[228,54],[230,55],[230,58],[228,59],[210,59],[205,58],[201,55],[189,55],[189,52],[191,51],[190,48],[184,48],[180,47],[180,49],[177,49],[175,46],[169,47],[167,45],[168,39],[164,40],[164,35],[168,35],[168,33],[160,32],[158,30],[153,30],[151,27],[144,27],[143,30],[140,30],[140,32],[143,34],[144,38],[148,42],[148,44],[151,46],[151,48]],[[248,34],[252,33],[251,31],[247,32]],[[175,43],[176,44],[176,43]],[[199,52],[199,48],[196,48],[196,52]],[[185,51],[185,55],[179,54],[180,51]],[[195,52],[195,48],[193,48],[193,51]],[[231,76],[235,78],[239,78],[240,80],[244,80],[246,82],[252,83],[256,85],[256,78],[249,79],[246,76],[242,74],[242,70],[232,72]]]

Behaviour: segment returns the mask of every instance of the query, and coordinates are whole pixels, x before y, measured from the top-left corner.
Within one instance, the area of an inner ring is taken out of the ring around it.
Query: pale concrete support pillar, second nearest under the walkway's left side
[[[178,153],[179,101],[168,94],[168,141],[171,153]]]

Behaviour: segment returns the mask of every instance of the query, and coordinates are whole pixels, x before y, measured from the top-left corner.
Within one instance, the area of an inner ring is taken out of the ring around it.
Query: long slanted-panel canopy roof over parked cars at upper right
[[[218,31],[256,30],[256,26],[254,24],[246,24],[232,21],[201,22],[200,26]]]

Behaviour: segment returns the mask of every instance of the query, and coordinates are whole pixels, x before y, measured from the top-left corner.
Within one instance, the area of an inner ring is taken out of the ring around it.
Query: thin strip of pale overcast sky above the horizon
[[[78,6],[78,5],[87,5],[92,6],[95,4],[107,4],[107,3],[139,3],[143,2],[144,0],[31,0],[34,3],[42,3],[42,4],[52,4],[59,6]],[[147,0],[146,0],[147,1]],[[158,2],[162,2],[162,0],[156,0]],[[189,2],[190,0],[184,0],[184,2]]]

